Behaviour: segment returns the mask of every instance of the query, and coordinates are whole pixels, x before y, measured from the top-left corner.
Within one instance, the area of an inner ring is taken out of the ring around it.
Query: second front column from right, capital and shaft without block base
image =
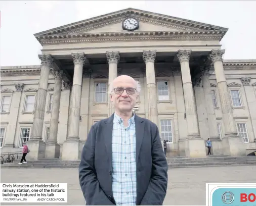
[[[195,96],[192,87],[189,58],[191,50],[179,50],[177,57],[181,64],[182,84],[186,108],[186,119],[189,138],[199,138],[198,118],[196,114]]]

